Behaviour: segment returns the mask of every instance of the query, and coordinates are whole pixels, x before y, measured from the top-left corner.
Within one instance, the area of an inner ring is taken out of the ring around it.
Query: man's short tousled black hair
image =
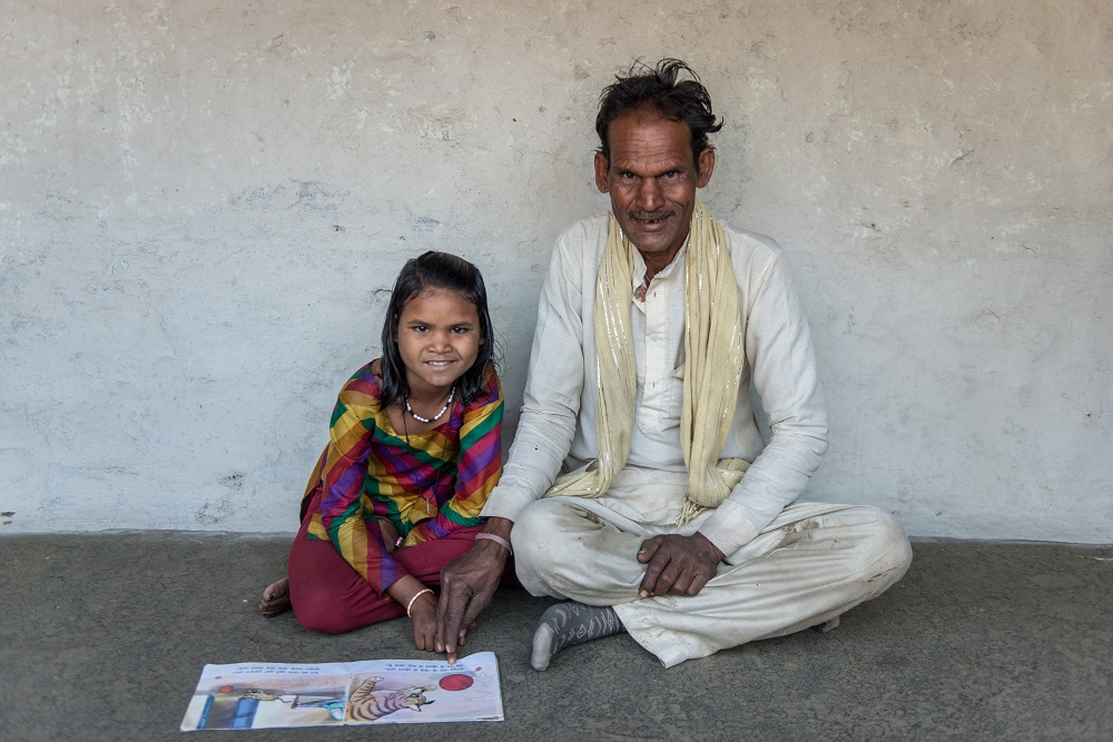
[[[680,79],[687,72],[686,79]],[[687,62],[679,59],[662,59],[656,68],[641,60],[627,70],[626,76],[617,75],[614,82],[603,89],[599,97],[599,115],[595,117],[595,133],[599,135],[599,152],[611,161],[611,145],[607,131],[611,121],[637,108],[654,108],[666,118],[683,121],[691,132],[692,159],[699,171],[699,156],[709,147],[707,135],[722,128],[722,120],[716,123],[711,111],[711,96],[699,81],[699,76]]]

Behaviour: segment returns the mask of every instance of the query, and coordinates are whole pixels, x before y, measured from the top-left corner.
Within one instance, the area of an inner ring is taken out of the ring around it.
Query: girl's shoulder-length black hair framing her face
[[[411,258],[402,267],[398,280],[394,284],[391,304],[386,308],[386,321],[383,323],[382,405],[384,407],[410,396],[406,367],[402,363],[402,354],[394,336],[402,308],[410,299],[430,288],[456,291],[474,304],[480,315],[480,337],[483,343],[480,345],[475,363],[456,380],[457,393],[465,405],[483,390],[483,372],[487,364],[494,362],[494,333],[491,329],[491,313],[486,306],[486,287],[483,285],[480,269],[449,253],[430,250],[420,257]]]

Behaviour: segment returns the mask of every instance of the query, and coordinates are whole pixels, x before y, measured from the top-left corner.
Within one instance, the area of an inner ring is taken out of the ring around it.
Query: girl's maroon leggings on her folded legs
[[[289,601],[298,623],[311,631],[341,634],[405,615],[405,606],[388,595],[380,597],[341,556],[333,542],[307,538],[308,526],[309,517],[306,516],[289,548],[286,566]],[[424,585],[437,587],[441,570],[466,553],[475,543],[475,534],[482,531],[482,525],[461,528],[444,538],[395,550],[393,556]],[[513,574],[512,561],[506,565],[508,572]]]

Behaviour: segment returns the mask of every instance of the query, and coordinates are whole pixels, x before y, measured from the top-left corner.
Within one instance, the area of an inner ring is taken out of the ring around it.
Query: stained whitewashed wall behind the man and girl
[[[1109,3],[681,4],[0,1],[0,534],[293,531],[430,248],[484,270],[516,409],[552,240],[607,207],[599,91],[678,56],[703,198],[816,334],[807,496],[1113,540]]]

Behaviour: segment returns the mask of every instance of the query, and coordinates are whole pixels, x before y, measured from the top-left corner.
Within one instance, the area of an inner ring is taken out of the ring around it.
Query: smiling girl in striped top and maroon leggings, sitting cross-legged
[[[302,498],[287,577],[263,592],[306,629],[339,633],[408,615],[434,650],[441,570],[483,530],[502,474],[502,388],[479,269],[445,253],[403,267],[383,357],[344,385]],[[489,537],[489,536],[486,536]]]

